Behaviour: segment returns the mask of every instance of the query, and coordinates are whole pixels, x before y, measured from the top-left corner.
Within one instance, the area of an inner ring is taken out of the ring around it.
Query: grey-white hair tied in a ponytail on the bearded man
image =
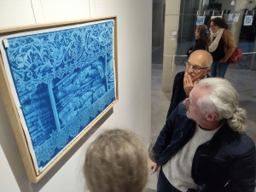
[[[196,85],[206,90],[206,94],[197,100],[201,113],[217,113],[218,119],[226,119],[234,131],[245,131],[246,111],[238,106],[238,94],[226,79],[202,79]]]

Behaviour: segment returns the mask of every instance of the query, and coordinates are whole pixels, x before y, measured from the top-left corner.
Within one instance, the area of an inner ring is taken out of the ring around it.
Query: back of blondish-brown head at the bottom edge
[[[132,131],[102,132],[87,149],[84,176],[90,192],[142,192],[148,180],[148,155]]]

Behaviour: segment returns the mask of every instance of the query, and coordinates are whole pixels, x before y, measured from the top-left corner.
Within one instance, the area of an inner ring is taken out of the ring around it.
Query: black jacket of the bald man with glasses
[[[177,107],[178,103],[182,102],[184,99],[188,97],[183,88],[184,74],[185,72],[179,72],[175,76],[173,87],[172,87],[171,103],[167,112],[166,119],[172,113],[172,111]],[[207,74],[207,78],[210,78],[210,75]]]

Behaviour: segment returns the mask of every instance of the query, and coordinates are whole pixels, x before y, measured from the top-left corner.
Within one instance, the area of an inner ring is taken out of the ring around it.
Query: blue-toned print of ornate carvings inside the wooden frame
[[[113,21],[8,42],[15,89],[44,167],[115,100]]]

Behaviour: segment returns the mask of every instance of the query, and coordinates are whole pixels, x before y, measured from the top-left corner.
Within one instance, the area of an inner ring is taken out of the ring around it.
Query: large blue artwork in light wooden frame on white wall
[[[0,31],[3,102],[33,183],[118,101],[116,17]]]

